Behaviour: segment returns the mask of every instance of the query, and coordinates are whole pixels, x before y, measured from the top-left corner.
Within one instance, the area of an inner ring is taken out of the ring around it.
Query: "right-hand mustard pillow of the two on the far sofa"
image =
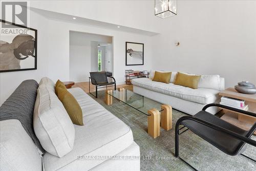
[[[178,72],[174,84],[189,87],[191,89],[197,89],[200,78],[201,75],[187,75]]]

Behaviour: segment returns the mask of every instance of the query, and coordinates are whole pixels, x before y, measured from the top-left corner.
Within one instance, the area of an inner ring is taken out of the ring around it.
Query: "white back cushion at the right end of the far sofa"
[[[221,91],[219,75],[201,75],[198,88],[214,89]]]

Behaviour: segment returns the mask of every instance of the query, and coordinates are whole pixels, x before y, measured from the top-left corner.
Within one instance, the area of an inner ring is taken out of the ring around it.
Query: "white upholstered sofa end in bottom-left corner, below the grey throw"
[[[0,121],[1,170],[42,170],[41,157],[33,140],[17,119]]]

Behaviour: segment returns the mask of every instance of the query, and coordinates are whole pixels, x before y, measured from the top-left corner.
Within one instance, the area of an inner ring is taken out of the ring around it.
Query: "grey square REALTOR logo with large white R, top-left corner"
[[[3,20],[27,26],[27,2],[2,2],[1,6]],[[2,28],[15,28],[15,26],[2,23]]]

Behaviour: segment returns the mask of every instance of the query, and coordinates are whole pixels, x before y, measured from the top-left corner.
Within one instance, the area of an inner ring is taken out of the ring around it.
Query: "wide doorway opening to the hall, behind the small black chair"
[[[112,36],[70,31],[70,80],[88,82],[90,72],[113,73]]]

